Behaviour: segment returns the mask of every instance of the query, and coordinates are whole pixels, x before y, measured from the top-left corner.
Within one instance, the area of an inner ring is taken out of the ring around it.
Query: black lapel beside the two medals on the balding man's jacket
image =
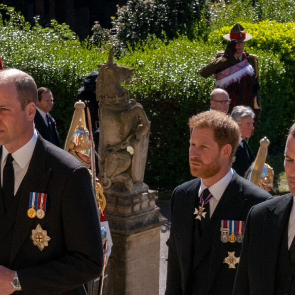
[[[32,224],[35,218],[27,216],[30,202],[30,192],[46,192],[46,187],[51,175],[51,169],[46,167],[46,143],[38,136],[34,153],[24,179],[17,192],[19,204],[15,219],[10,263],[13,261],[21,245],[28,234],[31,234]]]

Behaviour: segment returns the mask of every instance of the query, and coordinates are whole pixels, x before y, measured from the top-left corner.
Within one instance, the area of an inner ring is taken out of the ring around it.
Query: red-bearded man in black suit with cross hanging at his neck
[[[240,139],[225,113],[207,111],[189,120],[189,162],[197,179],[171,199],[166,294],[229,295],[250,208],[270,197],[231,169]]]

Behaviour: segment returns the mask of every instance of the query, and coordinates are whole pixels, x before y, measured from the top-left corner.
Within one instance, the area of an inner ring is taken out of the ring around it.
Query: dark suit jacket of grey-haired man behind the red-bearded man
[[[235,152],[235,161],[232,163],[232,168],[240,176],[244,177],[246,171],[255,160],[255,157],[253,156],[247,141],[245,139],[243,139],[242,141],[244,146],[242,147],[239,144],[237,152]]]

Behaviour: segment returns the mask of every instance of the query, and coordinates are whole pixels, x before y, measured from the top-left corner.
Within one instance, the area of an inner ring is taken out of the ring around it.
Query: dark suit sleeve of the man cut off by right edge
[[[240,263],[237,271],[237,276],[235,277],[232,295],[249,295],[250,293],[248,276],[248,249],[250,242],[250,219],[254,207],[251,208],[247,217]]]

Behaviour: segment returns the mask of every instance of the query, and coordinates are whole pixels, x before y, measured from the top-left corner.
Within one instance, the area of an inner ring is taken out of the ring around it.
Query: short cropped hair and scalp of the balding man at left
[[[17,99],[20,102],[21,109],[30,103],[37,102],[37,85],[29,74],[18,69],[0,70],[0,84],[14,83],[17,91]]]

